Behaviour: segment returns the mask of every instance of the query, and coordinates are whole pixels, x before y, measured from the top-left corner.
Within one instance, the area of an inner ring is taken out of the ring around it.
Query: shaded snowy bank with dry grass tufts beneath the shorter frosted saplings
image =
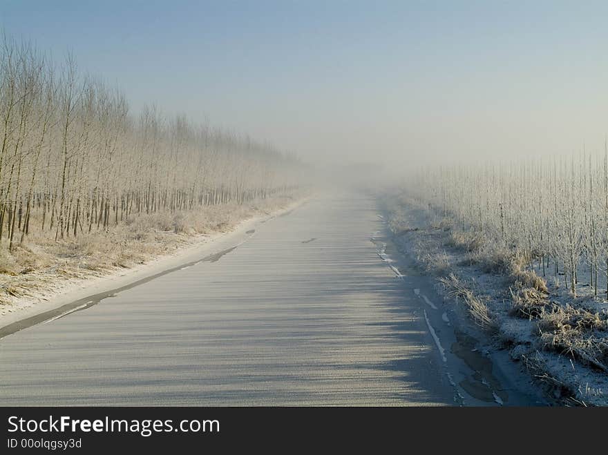
[[[478,233],[403,195],[383,199],[395,243],[437,276],[437,289],[496,349],[508,349],[564,405],[608,405],[608,304],[585,275],[573,298],[542,267],[497,255]],[[587,290],[587,291],[586,291]]]

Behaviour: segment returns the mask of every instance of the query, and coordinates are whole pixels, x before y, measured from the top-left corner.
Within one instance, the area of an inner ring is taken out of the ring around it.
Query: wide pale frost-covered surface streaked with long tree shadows
[[[0,405],[454,405],[371,197],[315,197],[234,249],[0,340]]]

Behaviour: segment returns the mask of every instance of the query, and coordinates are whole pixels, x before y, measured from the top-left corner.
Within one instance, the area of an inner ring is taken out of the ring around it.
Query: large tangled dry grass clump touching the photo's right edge
[[[540,315],[537,327],[545,349],[608,371],[608,313],[555,306]]]

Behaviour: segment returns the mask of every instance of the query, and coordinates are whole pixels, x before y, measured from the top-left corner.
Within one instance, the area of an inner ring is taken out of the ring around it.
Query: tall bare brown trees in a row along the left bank
[[[28,43],[1,43],[0,242],[10,248],[32,230],[61,239],[140,213],[267,197],[296,186],[300,168],[269,144],[154,106],[131,115],[73,57],[58,67]]]

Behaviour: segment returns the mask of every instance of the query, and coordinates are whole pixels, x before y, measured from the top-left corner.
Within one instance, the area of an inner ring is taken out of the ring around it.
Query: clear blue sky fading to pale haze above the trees
[[[303,157],[600,148],[606,1],[0,0],[0,26],[116,83],[134,108]]]

